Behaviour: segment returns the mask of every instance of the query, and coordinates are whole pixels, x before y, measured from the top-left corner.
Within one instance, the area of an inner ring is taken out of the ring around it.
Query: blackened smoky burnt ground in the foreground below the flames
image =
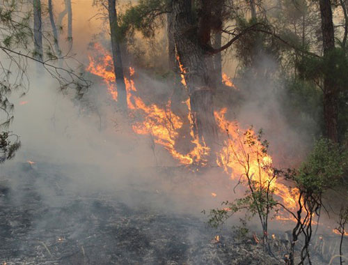
[[[272,242],[277,260],[253,236],[227,229],[216,241],[201,218],[129,206],[122,192],[77,193],[58,167],[40,167],[1,171],[1,264],[284,264],[283,236]]]

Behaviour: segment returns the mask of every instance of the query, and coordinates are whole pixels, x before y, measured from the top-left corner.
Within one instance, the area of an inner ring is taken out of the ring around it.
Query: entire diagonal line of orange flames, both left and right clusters
[[[111,69],[111,56],[100,45],[95,45],[99,56],[103,59],[95,59],[89,56],[90,64],[87,70],[90,73],[98,75],[104,79],[113,100],[117,100],[117,89],[115,84],[115,75]],[[186,87],[186,80],[180,58],[177,56],[177,61],[182,71],[182,84]],[[182,165],[207,165],[207,156],[209,156],[209,146],[200,141],[198,136],[193,133],[193,120],[191,116],[191,104],[189,98],[185,101],[188,109],[187,119],[190,124],[190,136],[193,149],[189,153],[180,153],[176,149],[177,139],[180,137],[179,130],[184,124],[184,118],[177,116],[171,110],[171,100],[168,100],[164,107],[159,107],[155,104],[147,105],[140,96],[136,95],[137,89],[132,77],[134,76],[134,68],[129,69],[129,77],[125,77],[127,104],[129,112],[141,112],[142,121],[136,121],[132,125],[132,129],[139,135],[151,135],[154,142],[164,147],[171,156],[178,160]],[[229,77],[223,74],[223,82],[227,86],[233,86]],[[239,128],[239,124],[235,121],[226,120],[225,114],[227,109],[221,109],[215,112],[216,123],[222,133],[228,131],[228,137],[223,142],[223,148],[216,153],[216,163],[223,167],[227,174],[230,174],[231,179],[238,180],[240,176],[245,174],[246,166],[250,167],[249,172],[253,176],[253,180],[259,181],[264,185],[272,176],[271,163],[272,158],[268,154],[263,154],[260,142],[253,146],[242,144],[246,141],[246,133],[255,134],[252,130],[246,131]],[[248,165],[247,165],[248,164]],[[296,206],[296,197],[298,190],[289,190],[286,185],[277,181],[272,181],[270,188],[280,197],[283,204],[288,209],[292,210]],[[216,194],[212,193],[212,197]]]

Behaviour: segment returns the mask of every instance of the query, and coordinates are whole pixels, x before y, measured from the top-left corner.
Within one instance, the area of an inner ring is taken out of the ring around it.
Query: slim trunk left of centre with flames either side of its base
[[[127,112],[127,92],[125,86],[125,76],[123,75],[122,56],[120,49],[120,29],[118,29],[116,0],[109,1],[109,22],[111,32],[111,50],[113,56],[113,69],[116,75],[116,86],[118,92],[118,103],[122,110]]]

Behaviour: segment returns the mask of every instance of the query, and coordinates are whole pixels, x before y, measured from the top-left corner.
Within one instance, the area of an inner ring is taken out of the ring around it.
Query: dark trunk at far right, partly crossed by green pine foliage
[[[319,8],[322,17],[324,56],[331,56],[331,52],[335,49],[331,1],[319,0]],[[335,68],[335,66],[326,67]],[[333,77],[329,75],[324,77],[324,122],[326,137],[338,142],[338,87]]]

